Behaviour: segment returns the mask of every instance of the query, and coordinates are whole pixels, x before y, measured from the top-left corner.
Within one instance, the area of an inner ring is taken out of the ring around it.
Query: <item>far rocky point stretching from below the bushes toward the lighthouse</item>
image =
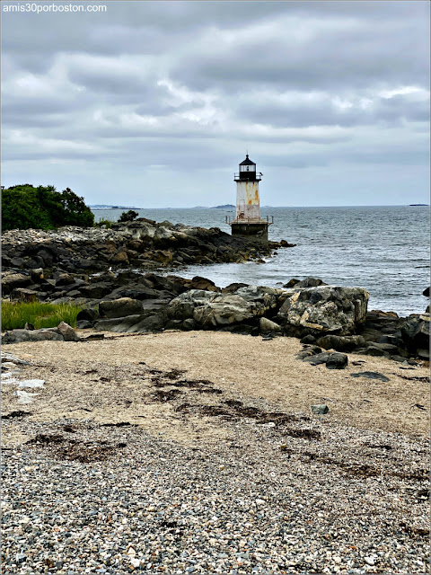
[[[47,270],[82,274],[129,265],[152,270],[191,263],[256,260],[277,248],[294,245],[286,241],[251,243],[216,227],[174,226],[145,218],[113,224],[111,229],[65,226],[48,232],[11,230],[3,234],[2,240],[3,271],[29,276],[30,270],[42,269],[45,277]],[[8,287],[11,282],[5,280]]]

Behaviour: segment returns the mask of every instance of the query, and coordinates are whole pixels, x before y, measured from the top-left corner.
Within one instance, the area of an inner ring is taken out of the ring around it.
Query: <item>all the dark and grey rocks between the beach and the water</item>
[[[99,332],[285,335],[302,339],[304,356],[331,349],[400,362],[429,359],[429,313],[400,318],[391,312],[368,312],[365,288],[327,286],[308,278],[291,279],[283,288],[232,284],[222,289],[201,277],[160,274],[163,268],[191,262],[259,259],[292,245],[250,243],[218,228],[156,224],[145,218],[112,229],[14,230],[3,238],[3,296],[74,302],[83,307],[77,326]],[[57,336],[52,331],[15,330],[2,341],[44,337]]]

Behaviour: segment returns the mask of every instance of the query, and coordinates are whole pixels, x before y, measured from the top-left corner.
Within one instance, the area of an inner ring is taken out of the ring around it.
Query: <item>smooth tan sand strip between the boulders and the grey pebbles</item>
[[[81,335],[87,335],[82,332]],[[22,376],[46,381],[31,405],[38,421],[60,418],[98,422],[127,420],[154,434],[177,441],[216,441],[227,433],[214,417],[190,413],[181,403],[215,404],[216,395],[181,392],[175,401],[154,401],[153,370],[185,370],[188,380],[205,379],[223,392],[224,401],[238,399],[259,409],[311,414],[311,405],[327,403],[328,422],[357,429],[381,429],[412,437],[429,432],[429,384],[425,364],[411,367],[387,358],[349,354],[348,367],[330,370],[297,358],[298,340],[228,332],[106,333],[102,341],[24,342],[4,349],[31,361]],[[375,371],[389,382],[354,378],[352,373]],[[2,386],[2,412],[16,410],[13,385]],[[317,417],[317,416],[313,416]],[[12,433],[12,429],[11,429]],[[3,442],[23,438],[4,434]]]

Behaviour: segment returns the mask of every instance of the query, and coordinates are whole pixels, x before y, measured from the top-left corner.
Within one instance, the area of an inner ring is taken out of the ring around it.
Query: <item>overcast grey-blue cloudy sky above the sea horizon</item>
[[[234,203],[248,150],[262,205],[429,201],[427,1],[11,4],[29,3],[1,6],[6,187]]]

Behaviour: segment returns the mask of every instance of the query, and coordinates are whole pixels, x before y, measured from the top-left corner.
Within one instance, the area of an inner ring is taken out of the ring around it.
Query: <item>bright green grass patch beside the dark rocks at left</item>
[[[31,323],[39,330],[41,327],[57,327],[66,322],[76,325],[76,315],[81,308],[74,304],[41,304],[40,302],[2,301],[2,330],[22,329],[25,323]]]

